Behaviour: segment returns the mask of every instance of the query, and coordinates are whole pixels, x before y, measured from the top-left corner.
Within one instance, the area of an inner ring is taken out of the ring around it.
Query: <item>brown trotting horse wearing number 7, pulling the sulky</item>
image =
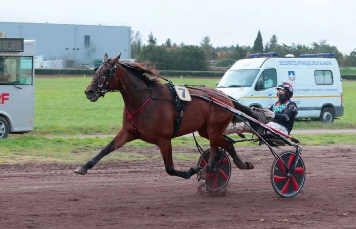
[[[174,129],[173,121],[177,118],[178,112],[174,108],[169,88],[160,82],[153,70],[146,69],[139,64],[119,62],[119,58],[120,55],[114,59],[108,59],[107,54],[104,55],[103,65],[95,69],[95,75],[85,90],[85,94],[87,99],[95,102],[107,91],[120,91],[125,103],[122,128],[97,156],[75,170],[75,173],[86,174],[87,170],[91,169],[105,155],[129,141],[141,139],[159,147],[169,175],[190,178],[200,168],[192,167],[188,171],[179,171],[175,170],[173,166],[171,139]],[[197,87],[197,89],[206,91],[189,89],[189,92],[215,97],[216,93],[223,94],[207,87]],[[221,97],[219,99],[233,106],[228,98]],[[203,179],[206,178],[206,174],[209,173],[217,160],[218,146],[229,152],[234,163],[240,169],[253,168],[251,163],[241,161],[232,143],[222,137],[222,133],[232,118],[231,112],[199,98],[193,97],[191,102],[186,103],[182,123],[175,136],[198,131],[200,136],[209,140],[209,160],[200,171],[200,176]]]

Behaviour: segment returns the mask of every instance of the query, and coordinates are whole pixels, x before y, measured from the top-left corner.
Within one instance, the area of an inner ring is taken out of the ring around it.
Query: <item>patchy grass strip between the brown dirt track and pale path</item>
[[[232,135],[233,136],[233,135]],[[236,139],[238,138],[237,136]],[[295,135],[303,145],[328,145],[328,144],[356,144],[354,134],[321,134],[321,135]],[[22,136],[1,140],[0,163],[25,163],[25,162],[60,162],[60,163],[85,163],[93,158],[106,146],[112,138],[45,138],[40,136]],[[209,148],[206,139],[197,138],[203,149]],[[192,137],[179,137],[172,140],[173,159],[197,161],[199,153],[196,150]],[[103,161],[127,160],[161,160],[157,146],[137,140],[128,143],[130,148],[121,148],[103,158]],[[179,152],[174,152],[174,147],[184,147]],[[238,149],[243,146],[258,146],[252,142],[236,144]],[[260,147],[266,147],[264,145]],[[144,152],[144,153],[142,153]],[[147,153],[147,152],[151,152]],[[153,152],[153,153],[152,153]],[[163,162],[162,162],[163,166]]]

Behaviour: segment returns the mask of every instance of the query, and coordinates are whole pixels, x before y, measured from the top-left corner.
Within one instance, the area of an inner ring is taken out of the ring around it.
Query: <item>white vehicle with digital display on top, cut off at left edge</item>
[[[0,38],[0,138],[34,130],[35,40]]]

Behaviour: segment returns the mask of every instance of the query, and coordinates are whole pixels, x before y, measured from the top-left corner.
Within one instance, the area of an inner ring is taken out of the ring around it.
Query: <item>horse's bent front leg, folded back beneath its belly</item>
[[[185,179],[190,178],[192,175],[198,173],[198,167],[191,167],[189,171],[178,171],[174,169],[173,165],[173,155],[172,155],[172,142],[169,139],[162,139],[157,144],[160,148],[164,166],[166,168],[166,172],[172,176],[183,177]]]

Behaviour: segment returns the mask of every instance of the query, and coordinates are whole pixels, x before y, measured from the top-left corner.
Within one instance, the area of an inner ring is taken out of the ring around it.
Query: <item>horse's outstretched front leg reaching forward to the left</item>
[[[134,134],[131,134],[130,132],[121,128],[114,137],[114,139],[108,145],[106,145],[106,147],[102,149],[97,156],[95,156],[92,160],[88,161],[84,166],[81,166],[76,169],[74,173],[85,175],[88,169],[93,168],[94,165],[98,163],[98,161],[100,161],[104,156],[122,147],[127,142],[130,142],[135,139],[137,139],[137,137]]]

